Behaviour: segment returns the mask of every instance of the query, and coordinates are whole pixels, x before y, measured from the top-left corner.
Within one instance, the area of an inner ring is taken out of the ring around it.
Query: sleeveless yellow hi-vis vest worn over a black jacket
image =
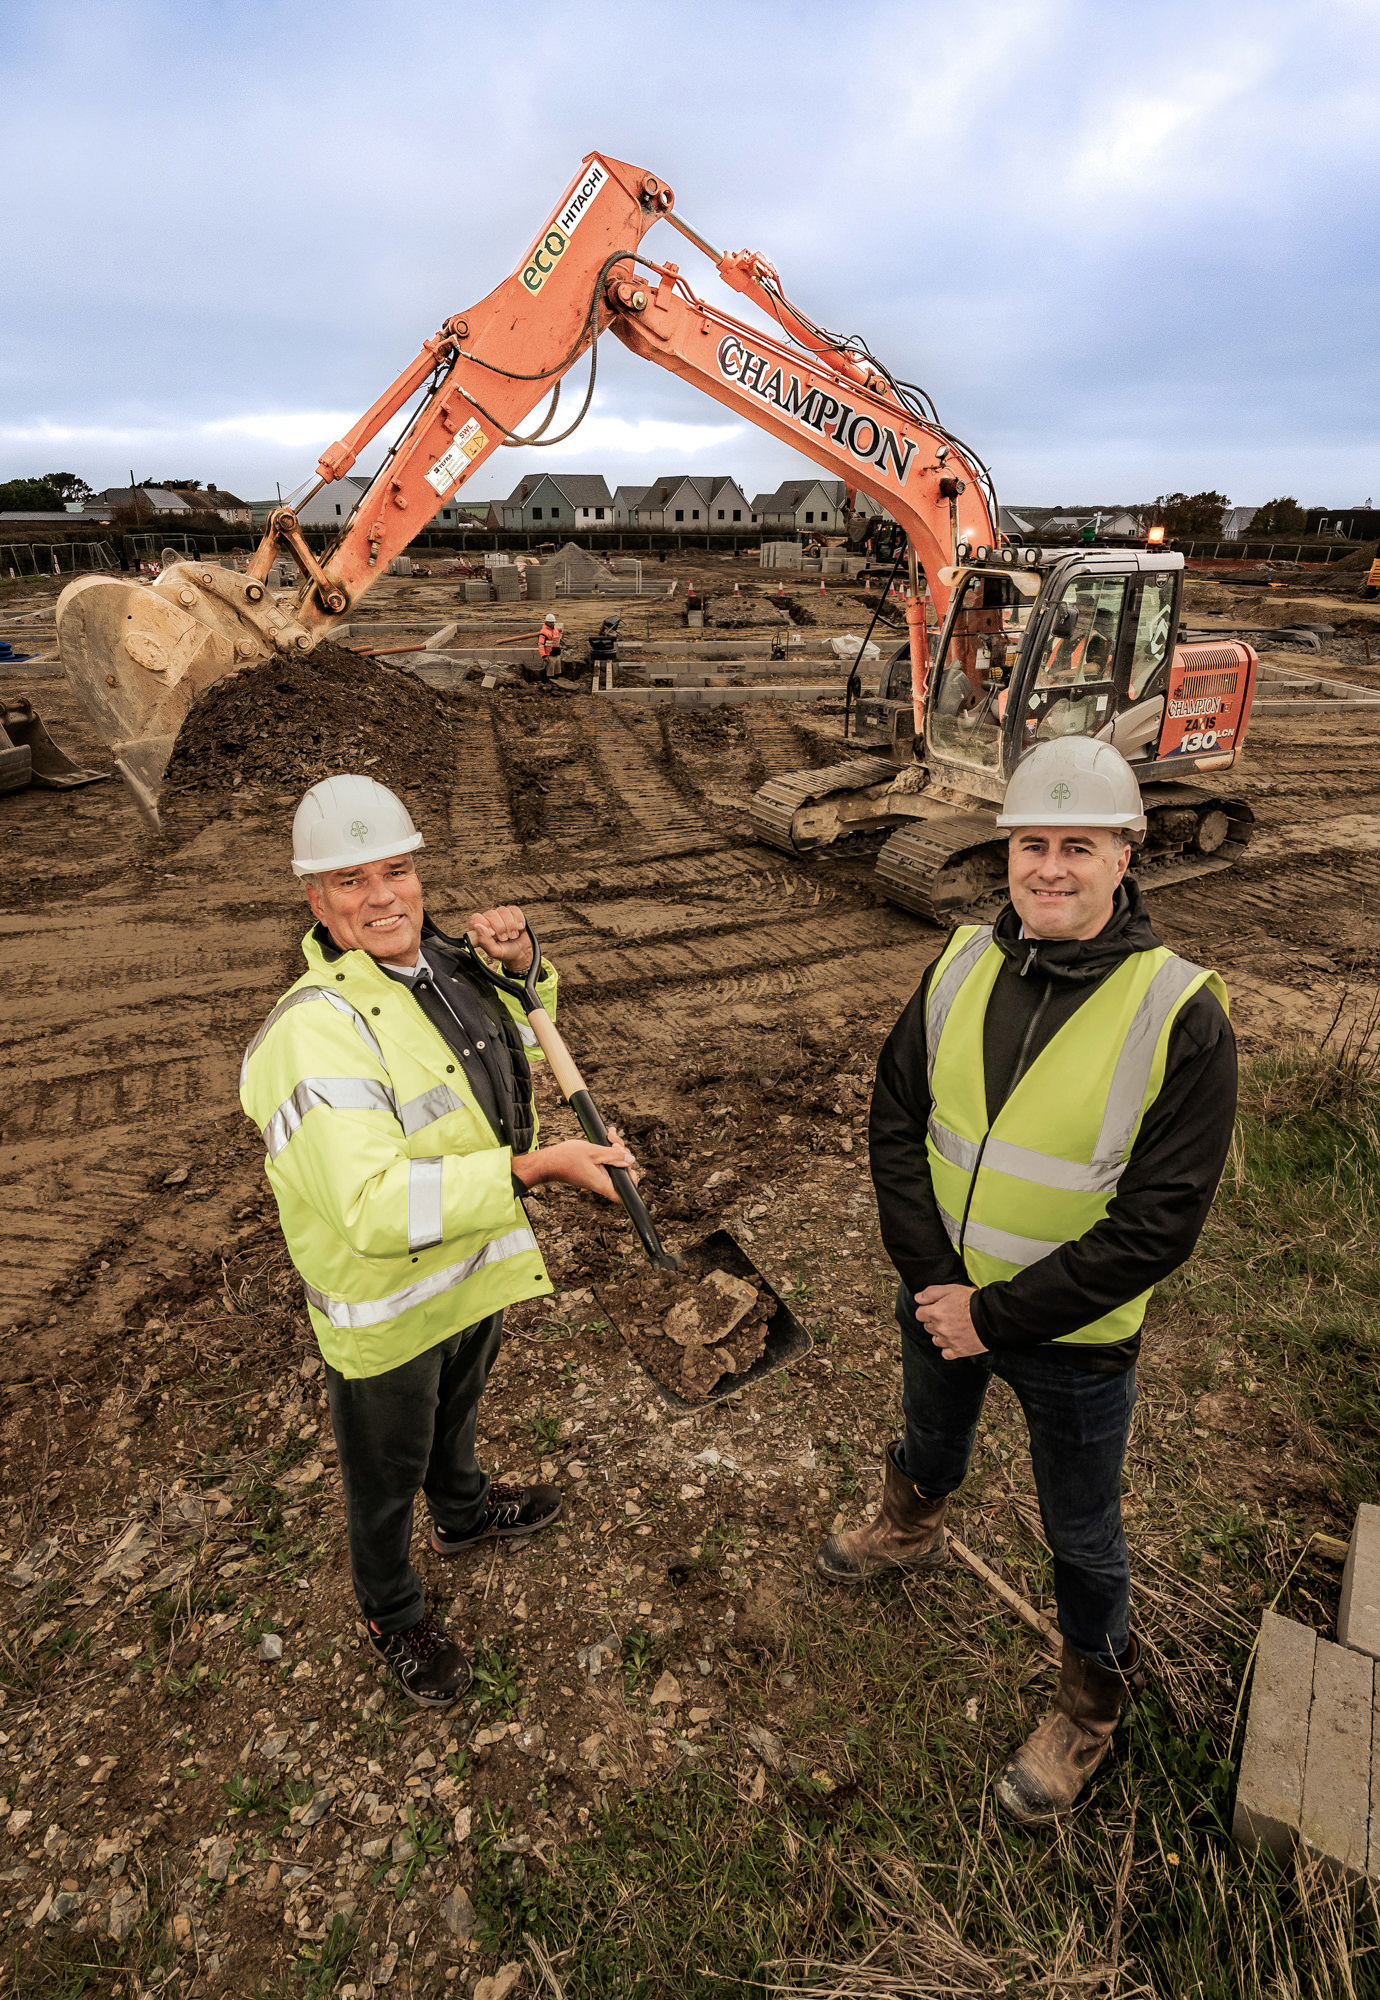
[[[924,1032],[930,1064],[930,1184],[976,1286],[1014,1278],[1086,1236],[1112,1204],[1142,1118],[1164,1084],[1170,1034],[1184,1002],[1216,972],[1158,946],[1132,952],[1050,1038],[988,1124],[982,1022],[1004,958],[992,926],[954,932],[930,976]],[[1128,1340],[1150,1292],[1056,1344]]]

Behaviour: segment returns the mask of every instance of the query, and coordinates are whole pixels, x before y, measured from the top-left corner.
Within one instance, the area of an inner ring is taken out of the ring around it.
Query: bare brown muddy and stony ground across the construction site
[[[760,596],[776,580],[746,560],[644,574],[680,592],[558,606],[568,654],[610,610],[624,632],[684,636],[692,574],[720,592],[712,616],[756,614],[744,630],[760,634],[778,618]],[[818,630],[864,630],[858,592],[786,590]],[[524,628],[510,606],[456,598],[446,578],[398,578],[368,608]],[[0,636],[32,632],[52,654],[54,600],[10,590]],[[1280,660],[1380,688],[1380,606],[1292,594],[1288,616],[1308,612],[1336,642]],[[1216,600],[1196,622],[1210,616],[1226,616]],[[72,756],[108,766],[54,666],[8,686]],[[844,754],[838,712],[538,688],[468,688],[434,710],[452,752],[416,752],[428,908],[442,928],[494,902],[530,914],[562,1030],[638,1150],[664,1234],[730,1228],[814,1350],[732,1400],[668,1406],[598,1300],[640,1256],[630,1226],[544,1188],[532,1216],[556,1296],[508,1316],[480,1438],[496,1476],[558,1480],[566,1514],[454,1562],[418,1534],[482,1672],[474,1702],[416,1712],[362,1646],[320,1362],[236,1096],[244,1044],[300,970],[296,798],[332,756],[406,790],[414,746],[388,736],[388,712],[304,712],[296,760],[188,782],[158,838],[118,782],[0,800],[0,1920],[10,1962],[32,1968],[16,1990],[88,1990],[60,1976],[90,1966],[90,1990],[128,2000],[272,1980],[468,1994],[506,1956],[526,1984],[490,1992],[546,1992],[512,1918],[524,1876],[558,1872],[620,1796],[708,1764],[760,1800],[798,1748],[822,1760],[824,1792],[846,1782],[846,1752],[798,1746],[792,1722],[828,1672],[810,1622],[838,1616],[810,1558],[870,1504],[898,1422],[866,1110],[876,1052],[942,938],[874,894],[866,854],[790,860],[752,840],[746,804],[768,776]],[[1246,1056],[1366,1014],[1378,752],[1380,710],[1258,716],[1238,776],[1256,812],[1244,864],[1152,898],[1164,940],[1222,972]],[[544,1078],[540,1108],[548,1136],[574,1130]],[[1266,1410],[1230,1354],[1204,1376],[1212,1330],[1192,1274],[1152,1308],[1132,1544],[1172,1542],[1190,1490],[1288,1520],[1294,1540],[1346,1534],[1326,1434]],[[1048,1606],[1004,1392],[956,1526]],[[1048,1698],[1038,1642],[1012,1638],[962,1572],[934,1592],[956,1654],[1000,1668],[966,1710],[996,1758]],[[1194,1658],[1210,1654],[1206,1572],[1178,1614],[1178,1630],[1148,1620],[1170,1682],[1172,1640],[1202,1630]],[[864,1628],[872,1610],[844,1616]],[[888,1616],[918,1614],[892,1598]],[[1192,1720],[1192,1690],[1184,1702]]]

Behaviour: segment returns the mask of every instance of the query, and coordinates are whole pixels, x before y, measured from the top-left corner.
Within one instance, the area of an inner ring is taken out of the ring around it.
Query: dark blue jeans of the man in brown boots
[[[1100,1376],[1054,1348],[988,1352],[946,1362],[896,1294],[906,1436],[900,1462],[922,1494],[952,1494],[968,1470],[992,1376],[1008,1382],[1026,1416],[1044,1538],[1054,1554],[1054,1598],[1068,1644],[1116,1666],[1130,1638],[1130,1560],[1122,1530],[1122,1464],[1136,1406],[1136,1370]]]

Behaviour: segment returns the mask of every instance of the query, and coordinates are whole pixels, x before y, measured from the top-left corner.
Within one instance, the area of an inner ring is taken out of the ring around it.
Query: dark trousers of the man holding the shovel
[[[326,1368],[354,1594],[380,1632],[406,1632],[426,1610],[408,1560],[418,1488],[450,1534],[480,1518],[488,1474],[474,1458],[474,1430],[502,1330],[494,1312],[382,1376],[350,1380]]]

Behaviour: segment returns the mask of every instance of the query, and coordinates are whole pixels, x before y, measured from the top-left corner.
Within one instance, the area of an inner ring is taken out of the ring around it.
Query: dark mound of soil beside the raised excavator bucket
[[[216,682],[186,718],[164,796],[242,786],[296,794],[350,770],[408,800],[442,802],[472,728],[468,712],[466,696],[344,646],[256,660]]]

